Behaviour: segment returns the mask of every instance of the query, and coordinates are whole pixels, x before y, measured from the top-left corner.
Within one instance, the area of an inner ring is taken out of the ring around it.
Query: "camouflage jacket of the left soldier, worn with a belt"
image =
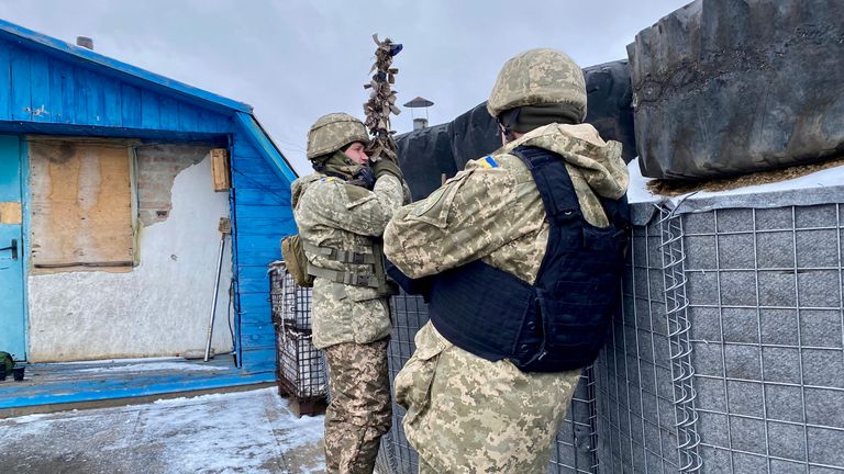
[[[346,184],[338,178],[314,173],[291,185],[293,216],[300,238],[358,253],[371,253],[393,211],[403,201],[402,183],[382,176],[373,191]],[[355,266],[306,251],[310,263],[330,270],[359,270],[371,274],[370,266]],[[386,295],[367,286],[353,286],[316,278],[313,282],[313,343],[323,349],[341,342],[368,343],[389,336],[390,311]]]

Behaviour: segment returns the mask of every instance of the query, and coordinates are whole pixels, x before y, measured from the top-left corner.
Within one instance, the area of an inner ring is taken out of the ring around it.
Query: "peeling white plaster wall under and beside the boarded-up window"
[[[218,223],[226,193],[211,185],[210,156],[176,176],[166,221],[141,229],[141,264],[131,272],[86,271],[29,278],[29,359],[147,357],[204,349],[213,297]],[[229,331],[231,237],[226,237],[212,347]],[[232,309],[233,312],[233,309]]]

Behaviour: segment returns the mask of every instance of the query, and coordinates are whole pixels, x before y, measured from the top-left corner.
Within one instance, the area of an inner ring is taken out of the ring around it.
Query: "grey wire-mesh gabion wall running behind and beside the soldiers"
[[[808,193],[633,206],[623,307],[549,473],[844,474],[844,190]],[[396,297],[393,320],[391,377],[426,307]],[[382,473],[417,471],[402,416]]]

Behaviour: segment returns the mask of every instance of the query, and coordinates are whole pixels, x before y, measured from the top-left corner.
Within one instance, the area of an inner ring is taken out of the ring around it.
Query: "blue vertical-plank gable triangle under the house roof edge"
[[[224,109],[144,87],[130,76],[0,40],[0,121],[229,133]]]

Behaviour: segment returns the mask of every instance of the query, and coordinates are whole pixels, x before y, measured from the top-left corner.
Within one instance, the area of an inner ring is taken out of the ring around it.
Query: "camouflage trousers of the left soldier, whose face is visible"
[[[330,474],[371,474],[380,439],[392,421],[387,340],[324,349],[331,403],[325,409]]]

